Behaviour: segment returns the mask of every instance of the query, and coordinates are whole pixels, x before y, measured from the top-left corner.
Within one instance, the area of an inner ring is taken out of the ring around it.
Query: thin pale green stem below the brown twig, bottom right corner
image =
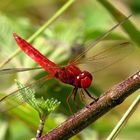
[[[127,123],[129,118],[132,116],[132,114],[134,113],[134,111],[138,107],[139,103],[140,103],[140,95],[138,95],[138,97],[134,100],[134,102],[129,107],[129,109],[126,111],[126,113],[124,114],[122,119],[119,121],[117,126],[110,133],[110,135],[108,136],[107,140],[114,140],[117,137],[117,135],[119,134],[119,132],[122,129],[122,127],[124,127],[124,125]]]

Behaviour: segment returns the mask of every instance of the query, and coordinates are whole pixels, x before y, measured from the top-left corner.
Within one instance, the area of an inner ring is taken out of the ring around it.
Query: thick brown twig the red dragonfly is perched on
[[[139,87],[140,71],[109,89],[96,102],[78,111],[38,140],[67,140],[99,119],[109,110],[121,104]]]

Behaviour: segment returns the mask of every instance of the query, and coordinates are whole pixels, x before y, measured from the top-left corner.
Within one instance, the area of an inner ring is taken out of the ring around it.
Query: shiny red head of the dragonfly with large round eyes
[[[88,71],[83,71],[75,79],[75,86],[78,88],[88,88],[92,82],[92,75]]]

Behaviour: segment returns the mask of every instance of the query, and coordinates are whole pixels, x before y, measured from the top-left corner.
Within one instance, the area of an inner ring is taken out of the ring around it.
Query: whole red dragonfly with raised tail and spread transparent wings
[[[31,44],[29,44],[26,40],[18,36],[16,33],[13,33],[13,36],[16,40],[16,43],[18,46],[35,62],[37,62],[41,68],[43,68],[45,71],[48,72],[48,75],[43,78],[44,80],[48,80],[51,78],[56,78],[59,81],[72,85],[74,88],[72,92],[67,97],[67,104],[68,107],[71,110],[71,107],[69,105],[70,98],[74,95],[73,100],[75,105],[76,101],[76,94],[79,89],[80,95],[85,92],[90,98],[92,98],[94,101],[96,100],[91,94],[88,92],[88,88],[90,87],[93,77],[92,74],[89,71],[81,70],[81,65],[88,66],[91,64],[93,65],[93,71],[91,72],[97,72],[100,70],[103,70],[104,68],[110,66],[111,64],[115,63],[116,61],[119,61],[120,59],[124,58],[128,55],[128,53],[131,51],[130,43],[125,41],[119,41],[114,45],[109,45],[105,47],[103,50],[99,50],[98,53],[92,54],[92,56],[84,59],[84,61],[81,59],[86,52],[91,50],[93,46],[95,46],[97,43],[99,43],[101,40],[103,40],[106,36],[110,34],[115,28],[117,28],[119,25],[123,24],[126,20],[128,20],[130,16],[126,17],[124,20],[122,20],[120,23],[113,26],[110,30],[108,30],[106,33],[99,36],[94,42],[90,43],[87,49],[80,54],[78,57],[76,57],[73,61],[71,61],[67,66],[59,66],[52,62],[51,60],[47,59],[43,54],[41,54],[37,49],[35,49]],[[117,56],[114,56],[117,54]],[[40,68],[40,67],[39,67]],[[0,70],[0,74],[5,73],[12,73],[12,72],[21,72],[21,71],[27,71],[27,70],[33,70],[33,69],[39,69],[39,68],[15,68],[15,69],[2,69]],[[2,108],[2,111],[5,111],[3,106],[6,104],[8,105],[8,109],[13,108],[14,106],[17,106],[18,104],[21,104],[21,99],[19,100],[18,97],[20,93],[17,91],[12,92],[11,94],[3,97],[0,100],[0,106]],[[12,103],[11,103],[12,101]],[[14,103],[16,102],[16,103]],[[16,104],[16,105],[15,105]],[[7,110],[6,108],[6,110]]]

